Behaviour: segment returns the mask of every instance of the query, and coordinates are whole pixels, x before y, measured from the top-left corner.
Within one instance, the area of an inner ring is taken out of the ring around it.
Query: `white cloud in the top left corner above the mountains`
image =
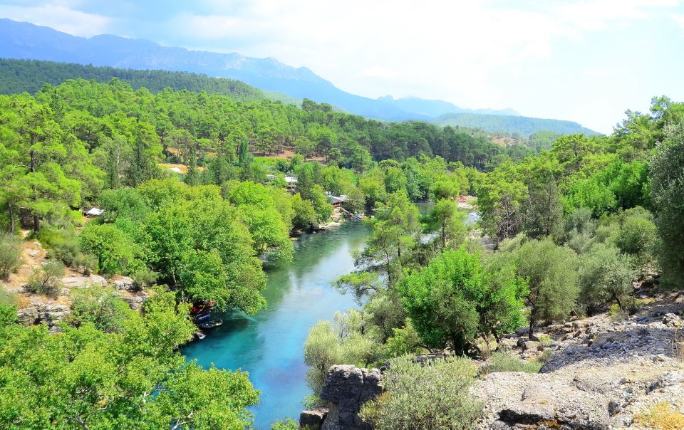
[[[71,9],[72,5],[73,2],[59,0],[36,6],[0,4],[0,16],[48,26],[74,36],[96,36],[108,30],[108,18]]]

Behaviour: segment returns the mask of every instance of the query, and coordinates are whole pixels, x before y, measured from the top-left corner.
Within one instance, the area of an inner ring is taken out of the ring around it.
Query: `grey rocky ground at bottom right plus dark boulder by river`
[[[646,429],[641,416],[654,405],[684,413],[683,315],[684,297],[670,296],[624,320],[597,315],[545,327],[535,333],[540,342],[526,330],[507,336],[504,348],[521,358],[553,355],[538,374],[487,374],[480,362],[484,376],[471,388],[484,405],[477,429]],[[300,424],[369,429],[358,411],[380,392],[378,369],[333,366],[321,392],[330,408],[304,411]]]

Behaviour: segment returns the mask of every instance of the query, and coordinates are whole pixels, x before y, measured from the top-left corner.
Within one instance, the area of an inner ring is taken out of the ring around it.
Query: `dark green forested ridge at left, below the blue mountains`
[[[112,78],[125,80],[134,90],[145,87],[152,93],[171,88],[176,91],[188,90],[196,93],[206,91],[209,94],[226,95],[242,102],[266,99],[266,95],[261,90],[242,81],[209,78],[207,75],[198,73],[133,70],[76,63],[0,58],[0,94],[35,94],[46,83],[59,85],[69,79],[108,83]]]

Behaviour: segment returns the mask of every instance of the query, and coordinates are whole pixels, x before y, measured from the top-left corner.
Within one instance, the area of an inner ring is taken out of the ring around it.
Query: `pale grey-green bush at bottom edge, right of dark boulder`
[[[468,393],[475,367],[467,359],[414,364],[390,362],[385,392],[361,408],[361,418],[376,430],[472,429],[482,405]]]

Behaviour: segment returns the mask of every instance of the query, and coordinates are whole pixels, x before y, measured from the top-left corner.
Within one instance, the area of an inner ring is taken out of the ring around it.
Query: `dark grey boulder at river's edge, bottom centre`
[[[361,420],[358,412],[364,403],[382,392],[379,369],[334,365],[328,370],[321,389],[321,399],[329,407],[302,412],[299,425],[322,430],[370,430],[371,426]]]

